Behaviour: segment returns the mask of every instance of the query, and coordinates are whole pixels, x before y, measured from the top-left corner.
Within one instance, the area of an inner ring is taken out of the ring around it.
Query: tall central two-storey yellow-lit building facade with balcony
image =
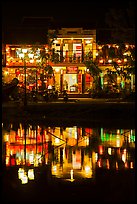
[[[96,30],[82,28],[62,28],[57,34],[52,47],[57,61],[52,66],[55,70],[55,86],[68,93],[85,93],[92,86],[92,77],[84,64],[86,57],[96,58]]]

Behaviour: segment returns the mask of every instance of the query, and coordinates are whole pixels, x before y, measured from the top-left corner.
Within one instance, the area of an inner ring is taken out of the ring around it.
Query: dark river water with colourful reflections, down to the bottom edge
[[[3,201],[135,201],[135,128],[53,124],[2,121]]]

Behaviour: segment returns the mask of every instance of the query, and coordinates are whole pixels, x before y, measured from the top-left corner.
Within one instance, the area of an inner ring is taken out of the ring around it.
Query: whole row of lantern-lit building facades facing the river
[[[49,30],[49,33],[54,33]],[[98,45],[96,30],[82,28],[62,28],[49,44],[33,45],[6,45],[3,46],[3,80],[10,82],[18,78],[24,86],[26,67],[26,86],[30,91],[46,90],[54,87],[59,92],[67,90],[68,94],[86,94],[93,88],[93,75],[88,72],[85,61],[92,60],[102,70],[100,83],[103,89],[108,85],[108,70],[114,71],[112,62],[118,64],[122,70],[129,64],[131,51],[134,45],[126,45],[122,58],[119,59],[118,45]],[[5,51],[4,51],[5,50]],[[52,53],[51,53],[52,50]],[[52,59],[49,56],[52,55]],[[45,60],[42,60],[44,56]],[[134,60],[134,59],[133,59]],[[53,72],[47,74],[45,67],[50,65]],[[111,73],[109,72],[109,74]],[[135,89],[135,75],[124,81],[121,76],[115,75],[115,85]]]

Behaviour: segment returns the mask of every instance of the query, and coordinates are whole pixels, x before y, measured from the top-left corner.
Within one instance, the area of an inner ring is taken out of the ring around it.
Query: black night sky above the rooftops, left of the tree
[[[128,7],[128,2],[133,0],[110,1],[3,1],[2,24],[3,26],[20,25],[26,17],[53,17],[58,24],[83,24],[103,26],[105,14],[109,8]]]

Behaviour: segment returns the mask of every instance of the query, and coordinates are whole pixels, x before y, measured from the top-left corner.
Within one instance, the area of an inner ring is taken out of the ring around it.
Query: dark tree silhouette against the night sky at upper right
[[[128,7],[110,8],[106,14],[106,24],[112,30],[111,37],[115,43],[135,43],[135,4],[129,2]]]

